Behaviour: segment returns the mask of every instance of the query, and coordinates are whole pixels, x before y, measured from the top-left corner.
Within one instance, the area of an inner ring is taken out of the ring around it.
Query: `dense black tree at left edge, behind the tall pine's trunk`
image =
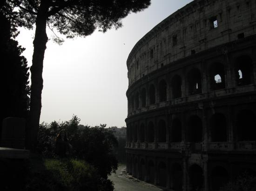
[[[12,37],[17,31],[0,13],[0,64],[1,64],[1,121],[6,117],[28,116],[30,87],[27,59],[20,54],[25,50]]]

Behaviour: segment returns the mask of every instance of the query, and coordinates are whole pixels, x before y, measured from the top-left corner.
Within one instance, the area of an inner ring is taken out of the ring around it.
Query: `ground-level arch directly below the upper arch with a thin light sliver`
[[[200,191],[203,187],[203,171],[198,165],[192,165],[189,168],[189,185],[191,191]]]

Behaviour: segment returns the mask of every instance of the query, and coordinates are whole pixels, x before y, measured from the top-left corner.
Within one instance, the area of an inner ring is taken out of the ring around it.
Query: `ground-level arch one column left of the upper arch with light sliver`
[[[182,174],[182,166],[178,163],[173,164],[171,168],[172,190],[182,191]]]

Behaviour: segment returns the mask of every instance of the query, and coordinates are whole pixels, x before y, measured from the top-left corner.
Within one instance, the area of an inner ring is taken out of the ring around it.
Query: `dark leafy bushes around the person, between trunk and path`
[[[113,148],[118,142],[112,132],[104,128],[106,124],[100,127],[80,128],[79,122],[80,119],[74,115],[70,121],[40,124],[37,151],[45,157],[56,157],[55,138],[61,130],[64,130],[69,143],[73,146],[70,157],[83,159],[92,164],[101,177],[106,179],[117,169],[118,161]]]

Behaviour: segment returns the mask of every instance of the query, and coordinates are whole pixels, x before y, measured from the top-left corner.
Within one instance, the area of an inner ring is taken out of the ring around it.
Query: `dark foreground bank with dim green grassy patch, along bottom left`
[[[110,180],[79,159],[1,159],[1,191],[113,191]],[[13,184],[15,180],[15,184]]]

